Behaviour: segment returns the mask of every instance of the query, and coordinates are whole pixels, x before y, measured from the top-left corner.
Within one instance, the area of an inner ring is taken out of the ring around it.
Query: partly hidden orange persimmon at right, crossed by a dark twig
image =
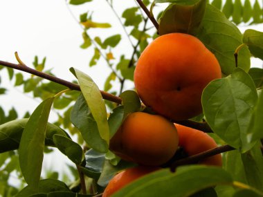
[[[183,147],[183,151],[188,156],[193,156],[203,151],[208,151],[217,147],[217,143],[207,133],[192,129],[188,126],[181,124],[175,124],[178,135],[179,135],[179,147]],[[199,162],[203,165],[215,165],[222,166],[221,154],[211,156]]]

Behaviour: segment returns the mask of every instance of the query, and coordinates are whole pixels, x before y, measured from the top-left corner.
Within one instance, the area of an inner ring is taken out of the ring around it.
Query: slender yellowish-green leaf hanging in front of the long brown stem
[[[71,68],[71,72],[78,78],[80,89],[89,106],[94,120],[98,126],[100,136],[107,144],[109,144],[109,125],[107,122],[107,111],[105,102],[102,99],[100,89],[93,82],[91,77],[78,71],[78,69]]]

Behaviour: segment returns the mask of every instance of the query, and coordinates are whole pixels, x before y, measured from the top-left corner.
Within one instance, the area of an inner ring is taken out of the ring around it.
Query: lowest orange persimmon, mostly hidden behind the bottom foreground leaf
[[[130,182],[140,178],[141,176],[145,176],[147,173],[151,173],[158,169],[161,168],[138,166],[138,167],[126,169],[125,171],[121,171],[109,181],[109,184],[105,188],[102,197],[109,197],[112,194],[114,194],[116,191],[125,187],[125,185],[129,184]]]

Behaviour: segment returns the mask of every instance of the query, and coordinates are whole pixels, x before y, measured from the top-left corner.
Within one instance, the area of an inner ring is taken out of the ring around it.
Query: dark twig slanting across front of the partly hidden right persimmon
[[[230,147],[229,145],[223,145],[221,147],[217,147],[215,149],[210,149],[208,151],[204,151],[202,153],[198,153],[194,156],[189,156],[188,158],[183,158],[180,160],[175,160],[172,165],[170,165],[170,169],[171,171],[175,171],[176,167],[181,166],[181,165],[189,165],[189,164],[193,164],[193,163],[197,163],[200,160],[203,160],[205,158],[211,157],[211,156],[215,156],[219,153],[224,153],[227,151],[233,151],[235,150],[235,148]]]

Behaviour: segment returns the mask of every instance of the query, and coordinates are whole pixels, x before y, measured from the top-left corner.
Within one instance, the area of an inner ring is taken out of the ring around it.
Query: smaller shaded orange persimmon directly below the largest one
[[[172,122],[161,115],[143,112],[127,116],[109,142],[109,149],[123,160],[140,165],[163,165],[178,147]]]

